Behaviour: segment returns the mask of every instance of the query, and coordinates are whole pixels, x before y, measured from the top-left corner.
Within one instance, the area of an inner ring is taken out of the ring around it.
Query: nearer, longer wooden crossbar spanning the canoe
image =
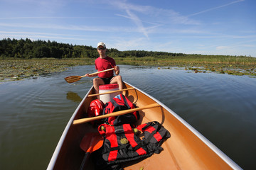
[[[102,119],[102,118],[109,118],[109,117],[115,117],[115,116],[118,116],[118,115],[124,115],[124,114],[127,114],[127,113],[132,113],[134,111],[141,111],[141,110],[148,109],[148,108],[156,108],[156,107],[159,107],[159,106],[161,106],[161,105],[159,105],[159,103],[153,103],[153,104],[149,104],[147,106],[144,106],[142,108],[132,108],[132,109],[124,110],[124,111],[113,112],[113,113],[110,113],[110,114],[107,114],[107,115],[99,115],[99,116],[92,117],[92,118],[82,118],[82,119],[74,120],[73,125],[78,125],[78,124],[81,124],[81,123],[87,123],[87,122],[90,122],[90,121],[93,121],[93,120],[99,120],[99,119]]]

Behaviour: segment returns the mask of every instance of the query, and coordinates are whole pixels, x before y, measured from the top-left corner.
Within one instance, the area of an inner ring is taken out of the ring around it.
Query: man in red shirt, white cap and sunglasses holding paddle
[[[112,57],[108,57],[106,55],[106,45],[104,42],[99,42],[97,44],[97,52],[99,52],[100,57],[98,57],[95,60],[95,68],[97,69],[98,72],[106,70],[106,69],[111,69],[114,68],[113,70],[108,71],[108,72],[101,72],[99,74],[93,74],[90,75],[85,74],[87,77],[96,77],[97,78],[93,79],[93,86],[95,88],[95,92],[98,94],[99,93],[99,86],[103,84],[118,84],[119,89],[123,89],[123,82],[122,82],[122,77],[119,75],[119,67],[116,65],[114,59]],[[114,76],[116,74],[116,76]]]

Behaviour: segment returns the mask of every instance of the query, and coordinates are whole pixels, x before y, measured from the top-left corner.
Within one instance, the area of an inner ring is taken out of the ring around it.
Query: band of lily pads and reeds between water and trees
[[[195,73],[217,72],[220,74],[232,74],[256,78],[256,64],[253,62],[213,62],[206,60],[173,60],[173,59],[154,59],[153,57],[142,58],[120,58],[114,57],[117,64],[185,68]],[[53,72],[63,72],[70,67],[79,65],[93,65],[95,58],[75,58],[75,59],[0,59],[0,82],[18,81],[26,78],[36,79],[43,74]]]

